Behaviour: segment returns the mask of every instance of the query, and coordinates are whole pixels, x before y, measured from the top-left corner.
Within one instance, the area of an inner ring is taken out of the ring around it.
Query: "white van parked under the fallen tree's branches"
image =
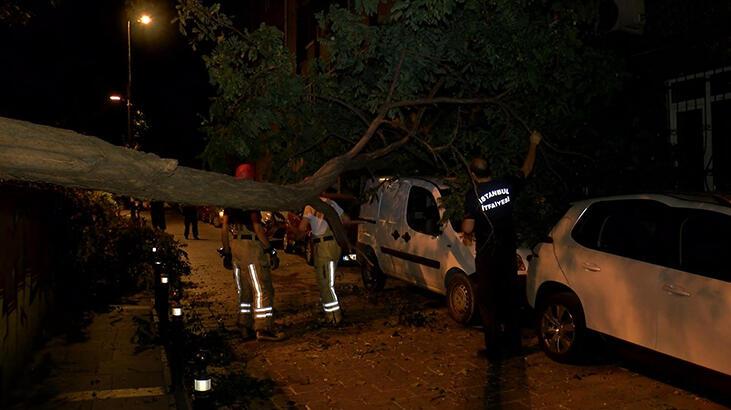
[[[439,206],[447,186],[437,179],[398,178],[371,181],[372,200],[361,205],[358,260],[363,284],[383,288],[392,276],[446,295],[449,313],[462,324],[477,315],[475,247],[462,244],[460,223],[440,222]],[[529,249],[516,254],[518,274],[525,277]]]

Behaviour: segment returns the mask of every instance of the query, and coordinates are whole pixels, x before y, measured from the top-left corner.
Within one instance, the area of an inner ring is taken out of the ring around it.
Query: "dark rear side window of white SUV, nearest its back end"
[[[670,238],[677,233],[669,226],[668,213],[668,206],[651,200],[598,202],[584,213],[571,236],[591,249],[672,265],[677,253]]]

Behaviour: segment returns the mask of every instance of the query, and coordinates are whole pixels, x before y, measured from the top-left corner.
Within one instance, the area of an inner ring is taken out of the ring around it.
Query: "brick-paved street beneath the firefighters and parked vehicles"
[[[169,231],[182,232],[176,223],[171,221]],[[218,233],[202,225],[201,234],[215,238]],[[206,311],[228,314],[235,309],[231,273],[220,266],[215,241],[196,242],[188,248],[193,273],[186,280],[209,298]],[[272,275],[275,310],[290,338],[236,346],[247,372],[277,384],[280,393],[270,400],[276,408],[592,409],[606,408],[604,403],[614,408],[723,408],[616,363],[553,362],[537,348],[529,329],[527,353],[493,366],[477,356],[484,343],[481,329],[452,322],[442,296],[389,279],[386,289],[369,300],[356,292],[362,288],[357,268],[339,268],[336,279],[347,320],[338,329],[322,327],[312,268],[297,255],[280,256],[281,267]],[[433,320],[423,327],[399,324],[403,311],[419,311]],[[224,320],[226,326],[233,323],[230,319]],[[675,390],[681,393],[673,394]]]

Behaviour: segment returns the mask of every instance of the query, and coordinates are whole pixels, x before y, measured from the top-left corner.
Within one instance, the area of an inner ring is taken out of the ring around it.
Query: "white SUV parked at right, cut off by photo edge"
[[[731,207],[711,196],[575,203],[531,260],[526,295],[548,356],[595,331],[731,374]]]

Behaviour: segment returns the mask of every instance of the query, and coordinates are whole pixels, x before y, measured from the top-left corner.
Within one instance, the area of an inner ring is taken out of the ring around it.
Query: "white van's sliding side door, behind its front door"
[[[382,187],[378,211],[376,243],[381,269],[391,276],[404,278],[404,260],[401,235],[406,217],[406,198],[411,184],[407,181],[390,181]]]

